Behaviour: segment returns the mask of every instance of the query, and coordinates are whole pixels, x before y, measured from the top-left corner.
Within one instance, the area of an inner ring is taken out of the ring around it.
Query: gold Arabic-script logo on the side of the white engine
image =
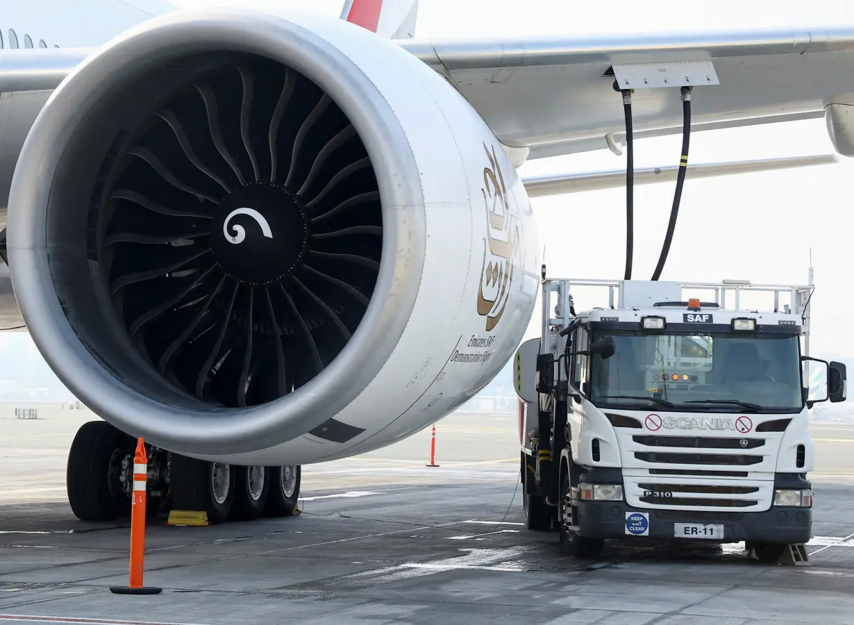
[[[487,236],[483,239],[483,266],[481,283],[477,289],[477,313],[486,317],[486,330],[492,330],[500,321],[510,296],[510,286],[515,269],[514,258],[518,251],[518,219],[510,212],[504,175],[495,156],[486,143],[483,149],[489,166],[483,168],[483,206],[487,216]],[[487,255],[489,258],[487,259]]]

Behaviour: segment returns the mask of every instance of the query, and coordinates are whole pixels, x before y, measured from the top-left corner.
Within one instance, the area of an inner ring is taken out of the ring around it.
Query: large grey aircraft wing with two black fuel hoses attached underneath
[[[619,140],[614,66],[626,64],[711,61],[719,84],[694,89],[692,131],[819,118],[830,103],[854,104],[854,25],[401,46],[449,80],[502,143],[529,148],[529,158],[605,149],[608,135]],[[635,137],[681,132],[680,85],[633,86],[641,87],[632,96]]]

